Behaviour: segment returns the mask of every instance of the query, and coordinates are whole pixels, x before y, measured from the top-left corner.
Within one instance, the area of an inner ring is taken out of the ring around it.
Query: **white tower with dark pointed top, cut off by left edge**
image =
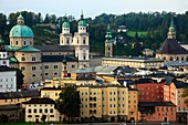
[[[4,41],[0,35],[0,66],[9,66],[8,54],[4,48]]]

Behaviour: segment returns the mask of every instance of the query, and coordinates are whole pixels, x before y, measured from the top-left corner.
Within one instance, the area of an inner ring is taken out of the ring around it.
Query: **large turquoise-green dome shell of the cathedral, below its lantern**
[[[24,24],[17,24],[10,30],[9,37],[34,38],[34,34],[29,27]]]

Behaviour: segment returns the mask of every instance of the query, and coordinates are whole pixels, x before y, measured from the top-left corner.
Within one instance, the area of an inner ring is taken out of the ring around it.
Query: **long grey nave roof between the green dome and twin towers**
[[[74,52],[73,45],[34,45],[42,52]]]

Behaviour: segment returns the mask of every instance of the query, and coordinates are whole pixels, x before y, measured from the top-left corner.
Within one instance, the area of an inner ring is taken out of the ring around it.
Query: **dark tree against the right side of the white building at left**
[[[21,88],[22,87],[22,84],[23,84],[23,73],[20,69],[15,69],[17,71],[17,88]]]

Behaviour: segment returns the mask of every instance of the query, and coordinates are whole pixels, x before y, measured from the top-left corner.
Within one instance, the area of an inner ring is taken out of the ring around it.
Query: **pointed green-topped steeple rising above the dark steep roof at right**
[[[168,39],[176,39],[176,28],[174,24],[174,19],[171,17],[170,27],[168,29]]]

